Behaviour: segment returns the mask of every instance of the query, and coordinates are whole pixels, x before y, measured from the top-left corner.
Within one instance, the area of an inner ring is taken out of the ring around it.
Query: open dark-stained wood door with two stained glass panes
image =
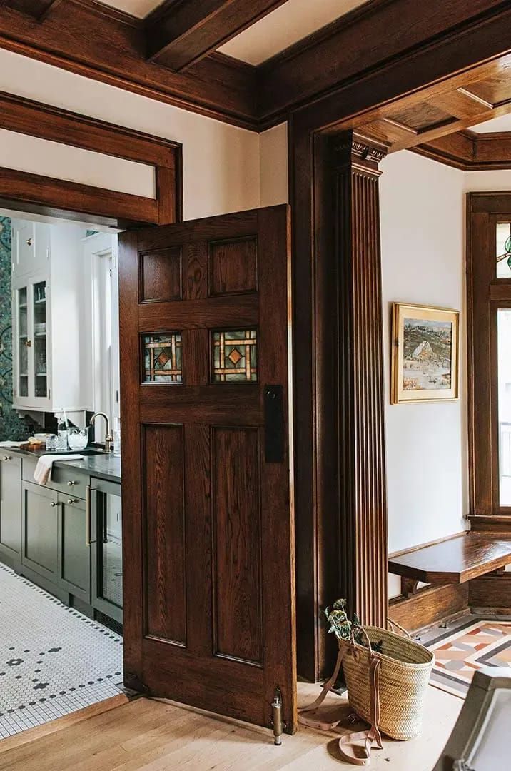
[[[119,242],[126,685],[296,727],[286,206]]]

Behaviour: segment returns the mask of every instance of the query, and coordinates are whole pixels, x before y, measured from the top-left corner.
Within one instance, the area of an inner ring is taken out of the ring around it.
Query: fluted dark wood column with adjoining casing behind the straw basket
[[[295,341],[312,341],[294,346],[298,672],[318,680],[335,661],[325,605],[346,597],[365,623],[385,623],[387,613],[378,208],[385,147],[294,122],[290,150],[294,206],[303,214],[294,212]]]

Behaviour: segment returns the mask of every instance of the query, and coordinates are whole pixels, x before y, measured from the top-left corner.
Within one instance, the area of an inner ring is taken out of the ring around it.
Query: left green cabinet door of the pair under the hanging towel
[[[56,584],[59,577],[58,493],[22,486],[22,565]]]

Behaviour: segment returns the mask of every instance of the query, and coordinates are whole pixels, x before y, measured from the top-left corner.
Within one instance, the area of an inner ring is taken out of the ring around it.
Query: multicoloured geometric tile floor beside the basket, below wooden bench
[[[482,667],[511,667],[511,620],[462,618],[424,644],[435,654],[432,685],[464,698]]]

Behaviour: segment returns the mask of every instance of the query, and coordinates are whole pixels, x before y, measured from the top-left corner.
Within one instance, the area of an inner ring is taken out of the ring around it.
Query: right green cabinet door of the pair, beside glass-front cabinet
[[[86,502],[59,493],[59,585],[90,604],[90,545]]]

